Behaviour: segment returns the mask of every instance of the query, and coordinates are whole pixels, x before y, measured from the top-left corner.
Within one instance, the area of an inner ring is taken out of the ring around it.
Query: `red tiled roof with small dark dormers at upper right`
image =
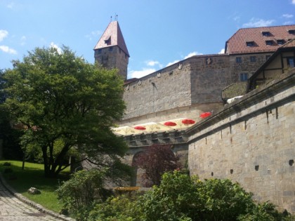
[[[290,34],[289,30],[295,30],[295,25],[283,25],[273,27],[253,27],[239,29],[225,43],[225,53],[259,53],[275,52],[280,48],[277,40],[295,39],[295,34]],[[263,36],[262,32],[270,32],[269,36]],[[254,42],[254,46],[247,46],[247,42]],[[267,45],[265,41],[273,41],[273,45]]]

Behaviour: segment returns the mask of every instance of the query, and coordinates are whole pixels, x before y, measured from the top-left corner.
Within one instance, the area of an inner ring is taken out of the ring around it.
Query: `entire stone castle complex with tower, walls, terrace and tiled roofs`
[[[111,22],[95,48],[96,62],[105,67],[125,59],[107,49],[109,36],[123,39],[112,25],[119,27]],[[130,147],[126,163],[152,144],[168,143],[191,175],[240,182],[257,201],[295,213],[294,39],[295,25],[239,29],[224,54],[192,56],[127,79],[126,112],[114,128]],[[119,42],[110,43],[123,51]],[[127,49],[124,55],[129,58]]]

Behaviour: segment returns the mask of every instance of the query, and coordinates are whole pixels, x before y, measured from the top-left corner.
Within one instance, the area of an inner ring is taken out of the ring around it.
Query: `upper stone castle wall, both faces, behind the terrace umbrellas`
[[[266,59],[256,55],[197,55],[126,84],[126,112],[121,126],[191,118],[222,107],[221,91],[248,76]],[[250,57],[255,56],[255,62]],[[242,62],[237,63],[236,57]]]

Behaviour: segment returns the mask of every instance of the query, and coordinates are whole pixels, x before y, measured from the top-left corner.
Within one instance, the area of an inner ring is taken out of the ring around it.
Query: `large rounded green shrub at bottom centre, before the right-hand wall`
[[[251,194],[230,180],[201,181],[174,171],[140,199],[143,216],[153,220],[237,220],[254,206]]]

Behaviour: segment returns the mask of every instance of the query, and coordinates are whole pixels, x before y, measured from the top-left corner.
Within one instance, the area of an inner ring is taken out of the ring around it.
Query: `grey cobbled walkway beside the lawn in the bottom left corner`
[[[58,215],[46,210],[39,204],[29,201],[9,187],[0,175],[0,221],[27,220],[72,220],[64,215]]]

